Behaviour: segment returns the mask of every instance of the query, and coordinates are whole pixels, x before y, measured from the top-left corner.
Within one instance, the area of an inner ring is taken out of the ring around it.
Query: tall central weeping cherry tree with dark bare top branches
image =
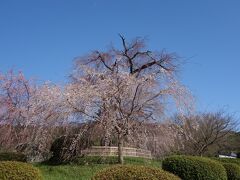
[[[120,38],[121,50],[93,51],[76,60],[65,100],[72,117],[97,121],[106,139],[117,133],[123,163],[124,139],[143,122],[160,120],[169,97],[181,109],[189,107],[190,96],[175,76],[179,65],[175,54],[145,50],[140,38],[131,43]]]

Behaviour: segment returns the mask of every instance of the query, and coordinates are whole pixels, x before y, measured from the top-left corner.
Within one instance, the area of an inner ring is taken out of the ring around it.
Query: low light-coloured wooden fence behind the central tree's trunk
[[[118,147],[92,146],[90,149],[83,150],[82,153],[88,156],[117,156]],[[123,147],[123,156],[152,158],[150,151],[130,147]]]

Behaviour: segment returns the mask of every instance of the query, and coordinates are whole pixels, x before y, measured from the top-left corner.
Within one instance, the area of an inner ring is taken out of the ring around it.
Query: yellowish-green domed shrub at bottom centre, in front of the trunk
[[[159,168],[134,165],[116,165],[99,171],[92,180],[180,180]]]

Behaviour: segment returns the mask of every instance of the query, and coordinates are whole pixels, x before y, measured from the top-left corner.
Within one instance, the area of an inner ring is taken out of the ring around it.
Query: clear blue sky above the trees
[[[0,71],[61,83],[75,57],[118,33],[186,59],[198,110],[240,115],[239,0],[0,0]]]

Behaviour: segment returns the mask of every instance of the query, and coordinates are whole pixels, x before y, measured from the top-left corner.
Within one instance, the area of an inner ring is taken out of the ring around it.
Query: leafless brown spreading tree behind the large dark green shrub
[[[179,141],[183,143],[185,153],[204,155],[208,148],[223,142],[236,128],[233,116],[223,111],[216,113],[202,113],[191,116],[177,116],[175,118],[179,132]]]

